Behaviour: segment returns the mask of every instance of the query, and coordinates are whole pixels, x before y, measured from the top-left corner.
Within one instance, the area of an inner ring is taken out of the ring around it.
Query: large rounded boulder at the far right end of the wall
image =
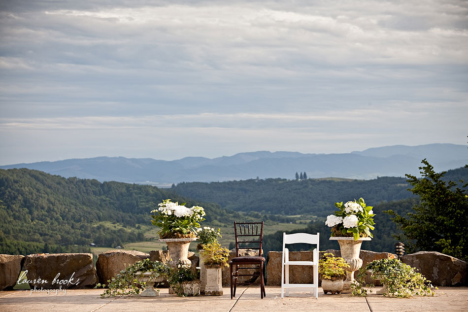
[[[435,286],[463,286],[467,282],[467,263],[436,251],[404,255],[401,261],[431,280]]]

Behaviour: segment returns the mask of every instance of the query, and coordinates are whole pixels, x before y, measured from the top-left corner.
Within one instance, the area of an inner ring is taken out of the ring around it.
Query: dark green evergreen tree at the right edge
[[[426,159],[422,163],[422,178],[406,174],[412,186],[408,190],[420,198],[413,206],[415,212],[407,213],[406,218],[393,210],[385,211],[403,232],[395,237],[410,252],[439,251],[467,261],[468,183],[445,182],[445,172],[435,173]]]

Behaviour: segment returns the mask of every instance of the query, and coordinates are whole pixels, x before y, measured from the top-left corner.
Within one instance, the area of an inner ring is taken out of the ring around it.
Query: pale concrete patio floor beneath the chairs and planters
[[[0,292],[1,312],[118,312],[118,311],[204,311],[204,312],[467,312],[468,287],[441,287],[434,297],[411,299],[386,298],[375,290],[367,298],[348,294],[325,295],[319,289],[319,299],[311,293],[291,292],[281,299],[279,286],[266,287],[267,297],[260,299],[258,286],[238,287],[231,300],[229,287],[223,296],[181,298],[161,289],[158,297],[116,297],[100,299],[102,289],[67,290],[66,293],[13,290]]]

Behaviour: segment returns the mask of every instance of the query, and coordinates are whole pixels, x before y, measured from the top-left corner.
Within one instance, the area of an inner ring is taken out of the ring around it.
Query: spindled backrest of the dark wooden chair
[[[239,249],[258,249],[262,255],[263,221],[262,222],[235,222],[235,256],[239,256]]]

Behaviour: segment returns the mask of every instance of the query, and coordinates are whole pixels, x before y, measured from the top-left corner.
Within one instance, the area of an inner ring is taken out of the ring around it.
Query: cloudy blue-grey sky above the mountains
[[[467,144],[468,1],[0,2],[0,165]]]

